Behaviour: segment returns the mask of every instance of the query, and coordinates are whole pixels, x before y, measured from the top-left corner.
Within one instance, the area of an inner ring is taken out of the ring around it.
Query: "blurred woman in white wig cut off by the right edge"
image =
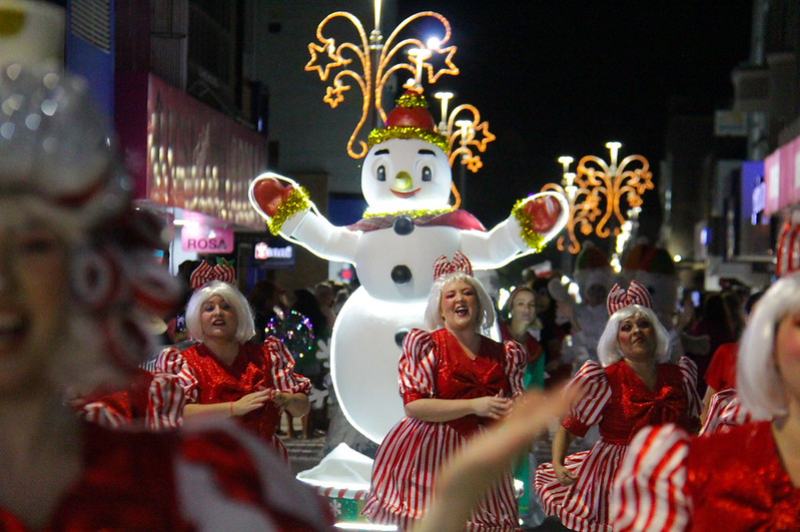
[[[736,365],[753,421],[698,438],[674,425],[637,434],[614,485],[615,531],[800,530],[800,273],[761,298]]]

